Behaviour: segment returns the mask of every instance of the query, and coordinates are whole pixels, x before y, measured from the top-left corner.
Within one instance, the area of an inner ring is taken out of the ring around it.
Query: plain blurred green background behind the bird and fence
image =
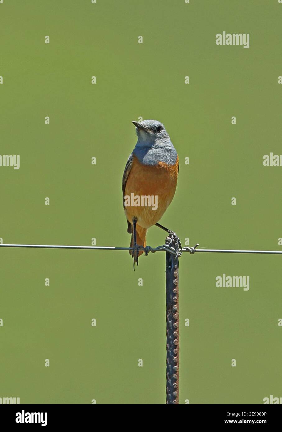
[[[121,178],[142,116],[180,158],[165,226],[200,247],[281,249],[282,167],[262,163],[282,153],[281,19],[277,0],[4,0],[0,152],[20,169],[0,167],[3,242],[129,246]],[[217,46],[223,31],[250,33],[250,48]],[[281,263],[181,257],[180,403],[282,396]],[[216,288],[222,273],[250,290]],[[3,248],[0,318],[0,397],[165,403],[165,254],[134,273],[123,251]]]

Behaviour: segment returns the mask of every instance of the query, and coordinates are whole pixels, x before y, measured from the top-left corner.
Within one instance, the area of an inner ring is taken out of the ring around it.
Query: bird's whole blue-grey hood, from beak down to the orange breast
[[[165,162],[174,165],[177,152],[171,143],[164,125],[157,120],[132,122],[136,127],[137,143],[133,154],[145,165],[156,165]]]

